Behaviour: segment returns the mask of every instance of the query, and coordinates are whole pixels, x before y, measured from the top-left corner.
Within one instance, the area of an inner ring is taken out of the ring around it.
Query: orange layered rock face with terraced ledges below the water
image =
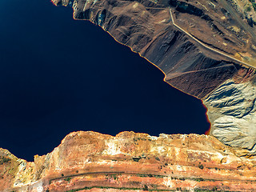
[[[255,161],[207,135],[79,131],[34,162],[0,155],[1,191],[256,190]]]

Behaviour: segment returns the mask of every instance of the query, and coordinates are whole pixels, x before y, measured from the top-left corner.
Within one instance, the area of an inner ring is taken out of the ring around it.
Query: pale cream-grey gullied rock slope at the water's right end
[[[206,98],[211,134],[229,146],[240,147],[240,155],[256,152],[255,78],[236,83],[227,80]]]

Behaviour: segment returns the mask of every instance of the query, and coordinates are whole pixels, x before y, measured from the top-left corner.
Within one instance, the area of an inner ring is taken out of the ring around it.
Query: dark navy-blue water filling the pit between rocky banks
[[[75,130],[203,134],[201,101],[72,9],[0,1],[0,147],[32,161]]]

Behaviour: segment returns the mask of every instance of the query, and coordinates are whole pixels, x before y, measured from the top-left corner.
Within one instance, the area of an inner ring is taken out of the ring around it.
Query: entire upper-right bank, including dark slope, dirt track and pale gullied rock
[[[254,0],[52,0],[102,26],[150,61],[171,86],[202,99],[210,134],[256,153]]]

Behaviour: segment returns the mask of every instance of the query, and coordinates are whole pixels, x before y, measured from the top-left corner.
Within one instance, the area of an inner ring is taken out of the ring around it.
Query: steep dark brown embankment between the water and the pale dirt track
[[[54,1],[68,5],[69,1]],[[240,66],[194,42],[171,22],[169,6],[150,1],[74,1],[74,18],[108,31],[158,66],[172,86],[203,98]],[[205,53],[204,53],[205,52]]]

